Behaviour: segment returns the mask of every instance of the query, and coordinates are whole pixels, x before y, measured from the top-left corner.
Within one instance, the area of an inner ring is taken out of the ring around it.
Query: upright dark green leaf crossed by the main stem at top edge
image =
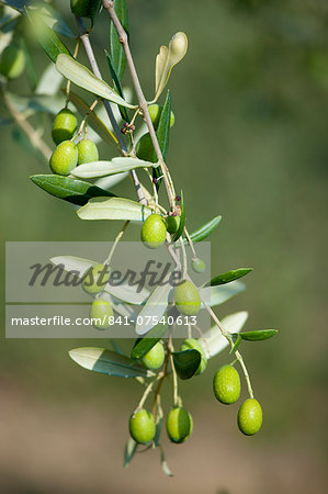
[[[114,9],[117,14],[117,18],[121,21],[121,24],[124,27],[124,31],[128,34],[128,13],[127,13],[126,0],[115,0]],[[114,69],[115,69],[118,80],[121,80],[123,77],[124,70],[125,70],[125,66],[126,66],[126,57],[125,57],[123,46],[120,43],[118,34],[117,34],[113,23],[111,23],[111,27],[110,27],[110,46],[111,46],[113,66],[114,66]]]

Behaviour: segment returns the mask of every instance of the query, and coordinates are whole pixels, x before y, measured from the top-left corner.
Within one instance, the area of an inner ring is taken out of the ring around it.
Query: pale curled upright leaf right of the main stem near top
[[[154,102],[158,100],[163,91],[174,65],[177,65],[186,54],[186,48],[188,37],[182,32],[174,34],[169,43],[169,47],[160,47],[159,54],[156,57]]]

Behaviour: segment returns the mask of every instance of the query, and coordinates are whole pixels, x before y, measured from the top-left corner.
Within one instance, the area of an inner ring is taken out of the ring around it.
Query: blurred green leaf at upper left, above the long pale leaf
[[[36,40],[38,41],[45,53],[48,55],[50,60],[56,63],[58,55],[71,58],[68,48],[59,40],[54,30],[52,30],[44,22],[42,16],[37,14],[37,11],[27,9],[27,16],[32,23],[33,33],[36,36]]]

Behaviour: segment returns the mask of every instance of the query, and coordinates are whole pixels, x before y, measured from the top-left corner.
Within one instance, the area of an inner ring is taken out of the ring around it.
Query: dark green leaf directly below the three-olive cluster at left
[[[30,178],[33,183],[49,194],[72,204],[84,205],[92,198],[115,197],[97,186],[60,175],[33,175]]]

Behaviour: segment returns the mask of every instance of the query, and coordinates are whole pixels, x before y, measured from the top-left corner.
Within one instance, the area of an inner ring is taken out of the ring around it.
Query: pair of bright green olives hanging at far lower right
[[[225,405],[236,403],[240,396],[240,378],[230,366],[220,367],[213,379],[215,397]],[[240,406],[237,416],[239,430],[246,436],[258,433],[262,425],[262,408],[256,398],[247,398]]]

